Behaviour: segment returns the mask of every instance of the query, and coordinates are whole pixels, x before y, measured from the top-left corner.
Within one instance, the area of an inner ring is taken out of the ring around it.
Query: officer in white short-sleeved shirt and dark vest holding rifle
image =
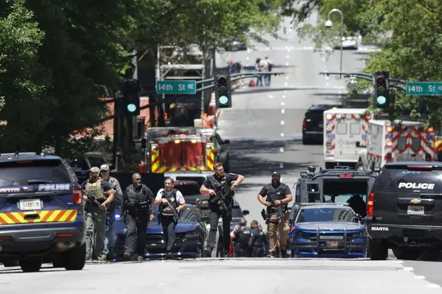
[[[165,188],[160,188],[155,198],[155,205],[159,205],[158,217],[160,218],[161,225],[163,226],[163,232],[166,242],[166,258],[172,259],[174,253],[172,249],[175,244],[175,226],[178,224],[178,219],[174,219],[174,213],[169,205],[176,209],[176,212],[180,213],[185,208],[185,201],[183,194],[174,188],[174,180],[167,177],[164,181]]]

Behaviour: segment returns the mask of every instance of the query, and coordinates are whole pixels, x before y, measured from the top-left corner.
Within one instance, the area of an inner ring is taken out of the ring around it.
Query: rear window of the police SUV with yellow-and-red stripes
[[[26,186],[28,180],[47,184],[71,183],[68,170],[59,160],[11,161],[0,164],[0,187]]]

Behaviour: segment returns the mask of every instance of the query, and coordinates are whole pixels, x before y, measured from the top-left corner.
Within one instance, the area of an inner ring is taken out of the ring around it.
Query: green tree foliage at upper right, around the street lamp
[[[300,34],[313,37],[318,48],[331,43],[340,30],[338,14],[331,17],[337,25],[325,28],[327,14],[333,8],[342,10],[344,35],[360,33],[365,42],[380,45],[380,51],[369,53],[364,72],[386,70],[396,79],[442,81],[442,6],[437,0],[286,0],[283,8],[300,25]],[[317,26],[303,25],[314,10],[319,14]],[[370,85],[360,84],[361,88]],[[441,126],[441,97],[406,96],[400,90],[394,90],[393,96],[393,118],[409,113],[419,117],[425,111],[429,124]]]

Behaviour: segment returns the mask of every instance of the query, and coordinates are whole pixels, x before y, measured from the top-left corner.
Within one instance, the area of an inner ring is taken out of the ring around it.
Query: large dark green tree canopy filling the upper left
[[[8,0],[0,3],[0,152],[78,155],[72,134],[96,135],[102,89],[121,88],[131,52],[154,68],[158,44],[207,50],[275,34],[283,0]],[[75,141],[75,140],[74,140]]]

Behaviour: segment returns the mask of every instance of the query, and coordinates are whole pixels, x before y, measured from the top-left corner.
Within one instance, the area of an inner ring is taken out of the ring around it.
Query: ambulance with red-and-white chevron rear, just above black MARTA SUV
[[[372,119],[368,124],[367,169],[393,161],[434,161],[434,128],[418,121]]]

